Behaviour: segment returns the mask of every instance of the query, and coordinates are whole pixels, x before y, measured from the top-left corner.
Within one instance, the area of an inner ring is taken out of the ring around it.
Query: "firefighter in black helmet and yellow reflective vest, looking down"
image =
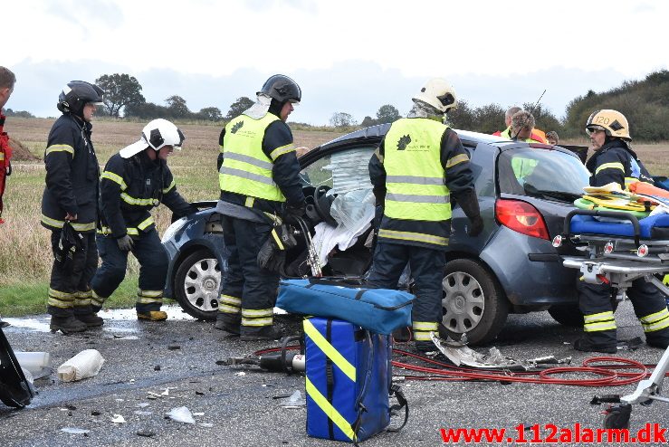
[[[276,339],[273,326],[279,276],[258,266],[272,223],[304,214],[300,165],[286,119],[301,100],[300,86],[275,74],[252,107],[225,126],[218,157],[225,248],[230,253],[215,328],[244,341]]]

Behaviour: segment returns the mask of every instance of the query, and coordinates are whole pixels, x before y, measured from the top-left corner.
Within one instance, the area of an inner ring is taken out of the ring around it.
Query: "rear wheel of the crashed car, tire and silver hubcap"
[[[483,345],[497,337],[509,314],[502,287],[480,262],[447,262],[442,281],[442,338],[458,339],[464,333],[470,345]]]

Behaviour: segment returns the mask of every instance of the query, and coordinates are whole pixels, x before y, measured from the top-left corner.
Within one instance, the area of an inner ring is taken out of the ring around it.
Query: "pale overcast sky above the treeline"
[[[225,114],[270,75],[291,76],[291,120],[406,114],[432,77],[472,106],[570,100],[669,67],[669,2],[23,0],[2,6],[5,107],[56,116],[62,86],[128,73],[150,102],[177,94]]]

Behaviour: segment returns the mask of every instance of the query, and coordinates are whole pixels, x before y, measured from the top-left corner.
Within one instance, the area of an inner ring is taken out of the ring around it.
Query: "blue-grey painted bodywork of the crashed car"
[[[387,133],[390,124],[372,126],[335,138],[315,147],[300,158],[302,167],[330,153],[350,147],[378,145]],[[473,163],[474,184],[479,195],[484,230],[476,238],[466,235],[469,220],[457,204],[453,208],[453,220],[448,259],[468,257],[478,259],[492,271],[513,305],[531,309],[546,309],[548,305],[569,304],[577,300],[575,271],[564,268],[557,257],[558,252],[550,241],[517,233],[497,223],[495,203],[499,198],[515,199],[535,206],[549,227],[550,235],[561,231],[564,216],[573,209],[569,203],[546,200],[527,195],[499,194],[497,186],[497,158],[505,150],[528,147],[527,143],[514,142],[499,137],[455,130],[470,153]],[[542,147],[542,146],[540,146]],[[577,157],[567,149],[550,147]],[[212,202],[215,205],[215,202]],[[165,243],[170,265],[167,275],[166,296],[173,297],[173,284],[177,265],[190,253],[206,248],[215,254],[220,265],[225,265],[225,249],[222,234],[205,233],[207,221],[215,219],[213,209],[201,211],[191,217],[175,237]],[[564,254],[564,253],[561,253]]]

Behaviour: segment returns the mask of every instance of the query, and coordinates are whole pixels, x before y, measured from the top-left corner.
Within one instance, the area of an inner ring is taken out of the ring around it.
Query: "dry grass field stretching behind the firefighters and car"
[[[5,129],[37,157],[43,157],[46,138],[54,119],[14,119],[10,117]],[[93,144],[100,167],[120,148],[139,139],[144,123],[112,120],[93,121]],[[218,197],[216,157],[220,126],[205,124],[179,125],[186,135],[184,149],[169,157],[169,166],[177,180],[177,188],[189,201]],[[316,147],[341,135],[324,130],[293,131],[295,144]],[[567,143],[567,142],[565,142]],[[588,144],[585,139],[570,141]],[[635,150],[645,166],[655,175],[669,173],[669,145],[636,145]],[[40,201],[44,185],[42,161],[15,161],[14,174],[5,192],[6,223],[0,226],[0,315],[16,315],[43,311],[52,252],[49,232],[40,225]],[[170,213],[165,206],[155,211],[158,232],[163,233]],[[129,277],[110,300],[111,305],[128,305],[134,300],[138,266],[131,257]]]

